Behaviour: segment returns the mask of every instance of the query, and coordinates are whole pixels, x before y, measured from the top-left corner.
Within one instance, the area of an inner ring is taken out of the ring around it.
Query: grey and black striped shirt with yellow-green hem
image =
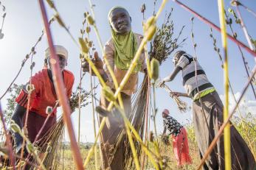
[[[189,54],[183,54],[180,57],[177,65],[182,69],[183,85],[187,92],[187,95],[190,96],[193,100],[199,98],[198,90],[201,97],[202,94],[203,96],[205,96],[208,93],[215,91],[215,88],[207,79],[207,75],[205,74],[203,68],[201,68],[201,65],[199,65],[198,61],[195,61],[192,56],[190,56]]]

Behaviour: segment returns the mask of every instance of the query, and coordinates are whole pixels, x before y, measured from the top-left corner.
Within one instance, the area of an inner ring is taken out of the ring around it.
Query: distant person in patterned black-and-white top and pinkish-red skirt
[[[182,167],[191,163],[187,142],[187,132],[185,128],[169,114],[169,110],[167,109],[162,111],[162,118],[164,122],[164,132],[162,136],[165,136],[166,130],[168,131],[168,136],[172,136],[173,151],[177,160],[177,166]]]

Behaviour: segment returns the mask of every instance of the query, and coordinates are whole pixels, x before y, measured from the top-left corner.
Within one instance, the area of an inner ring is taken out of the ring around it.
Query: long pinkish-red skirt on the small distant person
[[[192,163],[189,154],[189,147],[187,141],[187,132],[184,127],[181,127],[179,135],[172,135],[173,138],[173,152],[177,160],[177,166],[183,166]]]

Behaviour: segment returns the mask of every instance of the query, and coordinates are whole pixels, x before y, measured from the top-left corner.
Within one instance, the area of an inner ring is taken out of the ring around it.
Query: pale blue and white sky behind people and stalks
[[[217,1],[204,1],[204,0],[182,0],[182,3],[186,4],[193,10],[196,10],[198,13],[203,15],[205,18],[208,18],[210,21],[219,24],[218,18],[218,4]],[[251,9],[256,9],[256,1],[241,1],[246,6]],[[38,1],[27,0],[27,1],[14,1],[14,0],[2,0],[2,4],[6,7],[7,16],[4,21],[4,27],[2,32],[4,33],[4,38],[0,40],[0,94],[4,93],[7,89],[10,82],[12,82],[15,74],[17,74],[18,69],[21,66],[21,61],[24,59],[26,54],[30,52],[31,47],[38,40],[38,37],[41,35],[41,31],[44,27],[41,11],[38,5]],[[110,26],[108,24],[108,11],[111,7],[120,5],[125,7],[131,15],[132,18],[132,29],[134,32],[142,34],[142,13],[140,13],[140,7],[143,3],[146,5],[145,18],[149,18],[153,13],[153,0],[141,1],[141,0],[131,0],[131,1],[105,1],[105,0],[92,0],[92,3],[95,4],[95,20],[97,27],[100,32],[100,37],[105,43],[109,38],[111,38]],[[46,3],[45,3],[46,4]],[[156,10],[159,9],[161,1],[156,1]],[[82,28],[83,22],[83,13],[89,11],[89,2],[86,0],[62,0],[55,1],[55,6],[60,12],[60,16],[63,18],[63,21],[69,27],[69,31],[72,35],[78,40],[80,37],[80,29]],[[225,1],[225,8],[228,9],[230,6],[229,1]],[[185,25],[184,32],[181,35],[181,40],[187,38],[184,46],[181,50],[186,51],[189,54],[193,54],[192,40],[190,38],[190,29],[191,22],[190,18],[193,16],[188,13],[183,8],[179,7],[174,1],[168,1],[165,10],[160,15],[157,25],[161,25],[165,13],[170,12],[170,9],[173,8],[172,19],[175,26],[175,35],[179,33],[179,30],[182,26]],[[46,10],[48,18],[51,18],[54,14],[54,11],[49,8],[46,4]],[[1,11],[1,10],[0,10]],[[249,14],[246,10],[241,8],[241,13],[244,19],[244,22],[247,26],[249,34],[252,38],[256,38],[256,18],[253,15]],[[2,15],[2,12],[0,12]],[[1,21],[1,20],[0,20]],[[0,23],[1,24],[1,23]],[[232,24],[235,29],[235,32],[238,33],[238,39],[243,43],[247,44],[246,39],[241,31],[241,27],[238,24]],[[210,82],[215,86],[218,93],[221,96],[221,99],[224,99],[224,77],[223,70],[221,68],[221,62],[218,59],[218,55],[213,50],[212,39],[210,38],[210,26],[202,23],[197,18],[194,19],[194,37],[197,43],[196,55],[198,57],[198,62],[204,68],[204,71],[207,74]],[[57,22],[54,22],[51,25],[51,31],[53,35],[53,41],[55,44],[60,44],[65,46],[69,51],[69,60],[67,69],[72,71],[75,75],[75,85],[73,90],[78,85],[79,76],[80,76],[80,60],[79,60],[79,49],[75,43],[72,42],[72,39],[66,33],[66,31],[58,25]],[[227,29],[230,32],[229,29]],[[221,35],[219,32],[213,30],[213,35],[217,39],[217,46],[221,48]],[[100,52],[100,47],[97,44],[97,39],[94,32],[91,32],[91,39],[95,43],[96,50]],[[35,68],[33,73],[40,71],[44,65],[44,50],[47,48],[46,37],[44,36],[41,42],[38,44],[35,51],[37,52],[34,57]],[[254,57],[243,50],[246,57],[246,61],[249,64],[249,67],[252,69],[255,65]],[[221,49],[221,54],[223,51]],[[235,96],[238,98],[240,92],[243,88],[243,85],[246,83],[246,72],[243,67],[243,62],[241,54],[238,51],[238,47],[232,41],[228,40],[228,56],[229,56],[229,79],[232,84],[232,87],[235,91]],[[166,60],[160,67],[160,77],[166,77],[173,70],[173,64],[170,59]],[[21,74],[18,79],[16,79],[16,84],[26,83],[30,78],[30,62],[27,62],[24,65]],[[142,79],[142,74],[139,76],[140,80]],[[83,79],[82,86],[86,90],[89,90],[89,74],[86,74],[86,77]],[[173,82],[167,82],[167,85],[173,91],[184,92],[184,88],[181,83],[181,74],[178,74],[176,79]],[[97,89],[97,93],[100,93],[100,88]],[[7,97],[1,101],[3,109],[6,107]],[[191,105],[192,101],[190,99],[182,99],[187,102],[188,105]],[[230,106],[234,105],[234,100],[230,100]],[[162,116],[161,111],[165,108],[170,110],[171,116],[176,118],[181,124],[186,124],[188,121],[192,120],[192,111],[188,110],[187,113],[179,113],[179,110],[176,107],[173,99],[168,96],[167,92],[164,89],[156,89],[156,107],[160,111],[156,116],[157,122],[157,132],[162,132]],[[243,103],[241,107],[244,107],[255,113],[256,111],[256,101],[255,97],[252,95],[252,90],[249,90],[246,93],[246,96],[243,98]],[[59,110],[59,113],[61,110]],[[246,113],[246,112],[244,112]],[[256,113],[255,113],[256,114]],[[78,130],[78,112],[72,114],[72,122],[74,124],[75,132]],[[92,113],[91,105],[82,109],[81,113],[81,141],[91,142],[94,141],[93,134],[93,124],[92,124]],[[66,136],[68,141],[68,137]]]

